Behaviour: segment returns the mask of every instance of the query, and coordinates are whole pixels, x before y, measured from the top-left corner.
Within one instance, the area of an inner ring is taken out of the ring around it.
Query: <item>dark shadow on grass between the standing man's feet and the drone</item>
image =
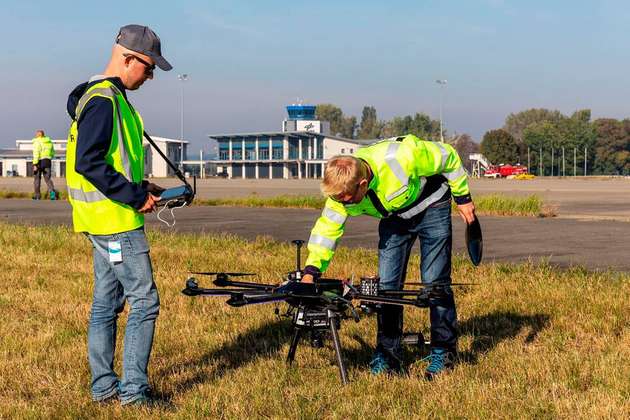
[[[229,371],[238,369],[261,356],[281,357],[279,350],[291,339],[292,331],[293,327],[289,321],[278,319],[239,334],[232,342],[188,363],[167,366],[157,375],[169,375],[173,370],[195,372],[174,385],[178,393],[183,393],[198,384],[219,379]],[[208,365],[213,366],[210,371]],[[173,395],[163,394],[161,397],[170,401]]]

